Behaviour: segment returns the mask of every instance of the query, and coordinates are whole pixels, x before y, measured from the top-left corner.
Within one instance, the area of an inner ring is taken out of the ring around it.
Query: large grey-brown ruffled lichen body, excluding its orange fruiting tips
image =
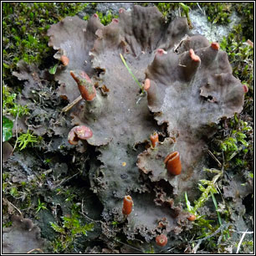
[[[166,24],[155,7],[120,9],[107,26],[97,15],[88,22],[67,17],[48,35],[58,50],[54,57],[69,58],[55,74],[59,95],[69,102],[80,95],[70,72],[84,71],[96,89],[94,100],[80,100],[69,110],[67,129],[85,125],[93,132],[87,143],[98,155],[90,161],[90,186],[105,221],[126,218],[127,238],[140,234],[147,242],[162,233],[163,220],[164,233],[181,233],[189,225],[180,201],[185,192],[197,196],[207,141],[221,118],[243,109],[243,85],[233,77],[228,55],[190,33],[187,18]],[[139,83],[150,79],[149,90],[141,94],[120,54]],[[161,140],[153,148],[155,131]],[[164,163],[173,151],[182,163],[177,176]],[[127,217],[125,195],[133,200]]]

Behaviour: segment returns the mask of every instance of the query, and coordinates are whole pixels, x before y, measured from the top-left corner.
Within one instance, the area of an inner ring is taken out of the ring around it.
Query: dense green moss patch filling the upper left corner
[[[3,77],[20,59],[40,64],[49,54],[50,24],[79,13],[87,3],[3,3]]]

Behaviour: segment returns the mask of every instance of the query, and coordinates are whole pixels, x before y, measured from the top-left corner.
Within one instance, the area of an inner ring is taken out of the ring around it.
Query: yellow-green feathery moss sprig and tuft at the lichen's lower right
[[[191,202],[188,200],[187,192],[185,192],[185,201],[187,212],[190,212],[196,217],[193,221],[193,227],[190,233],[192,233],[193,237],[198,236],[197,243],[203,243],[207,251],[214,252],[219,249],[221,241],[225,242],[230,238],[229,229],[231,226],[226,223],[226,220],[229,222],[230,214],[227,204],[223,202],[220,208],[219,206],[221,204],[218,203],[214,196],[214,194],[218,194],[218,183],[222,182],[223,170],[205,168],[204,171],[214,173],[215,176],[212,177],[212,180],[199,181],[198,188],[202,194],[197,201],[193,202],[194,206],[192,206]],[[206,205],[209,207],[211,204],[215,207],[215,217],[212,218],[207,215],[200,215],[202,207]]]

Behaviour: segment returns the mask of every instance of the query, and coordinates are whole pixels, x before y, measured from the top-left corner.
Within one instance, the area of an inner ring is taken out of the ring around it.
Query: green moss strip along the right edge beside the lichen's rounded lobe
[[[253,115],[253,47],[246,43],[248,37],[246,31],[251,31],[253,16],[252,4],[233,3],[236,9],[244,17],[241,23],[233,27],[233,31],[223,38],[221,49],[228,53],[228,59],[233,68],[233,75],[240,79],[242,84],[248,86],[245,94],[243,112],[229,120],[223,120],[218,128],[218,133],[213,140],[212,151],[216,156],[224,155],[228,161],[227,167],[238,169],[250,169],[253,159],[252,120],[248,115]],[[241,10],[239,9],[241,8]],[[242,13],[242,8],[244,13]],[[251,22],[251,23],[248,23]],[[253,32],[251,35],[253,36]],[[245,114],[245,115],[244,115]]]

